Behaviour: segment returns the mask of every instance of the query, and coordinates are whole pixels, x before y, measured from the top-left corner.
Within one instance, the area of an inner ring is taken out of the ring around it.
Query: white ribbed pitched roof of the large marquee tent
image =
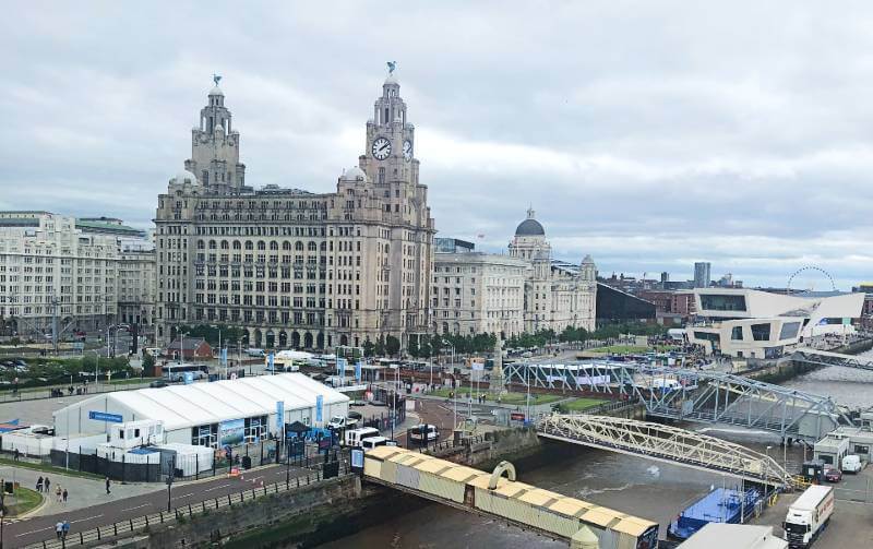
[[[343,393],[302,373],[283,373],[162,389],[117,391],[108,395],[96,395],[72,406],[87,407],[92,401],[108,399],[110,409],[123,407],[137,420],[159,419],[164,421],[165,430],[174,430],[275,414],[277,401],[285,402],[286,410],[312,408],[318,395],[323,395],[325,405],[349,399]],[[60,410],[56,414],[59,413]]]

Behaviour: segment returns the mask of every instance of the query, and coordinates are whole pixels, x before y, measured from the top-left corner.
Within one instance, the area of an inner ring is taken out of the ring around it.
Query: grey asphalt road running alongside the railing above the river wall
[[[291,479],[294,479],[298,476],[304,477],[314,472],[291,467],[290,473]],[[243,472],[240,478],[219,475],[210,479],[175,484],[170,493],[171,505],[174,508],[183,508],[189,504],[210,501],[260,487],[261,482],[264,485],[284,482],[285,475],[286,469],[284,466],[268,465]],[[75,536],[79,532],[96,528],[97,526],[107,526],[112,523],[167,510],[166,490],[121,499],[113,499],[110,494],[107,499],[106,503],[75,511],[24,518],[11,524],[7,523],[4,541],[10,544],[11,547],[22,547],[55,539],[55,525],[59,521],[69,521],[71,526],[70,534]]]

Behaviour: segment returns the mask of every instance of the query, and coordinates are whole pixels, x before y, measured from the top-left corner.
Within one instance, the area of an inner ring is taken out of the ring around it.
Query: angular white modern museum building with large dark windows
[[[854,333],[863,294],[788,296],[753,289],[697,288],[689,341],[707,353],[777,358],[813,338]]]

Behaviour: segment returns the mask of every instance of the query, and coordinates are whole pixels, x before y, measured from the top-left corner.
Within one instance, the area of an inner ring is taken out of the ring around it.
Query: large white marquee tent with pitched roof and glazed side
[[[108,437],[113,425],[156,420],[163,425],[167,443],[235,445],[279,433],[279,402],[283,422],[323,427],[332,416],[348,413],[349,398],[301,373],[117,391],[56,411],[55,433],[65,439],[99,433]]]

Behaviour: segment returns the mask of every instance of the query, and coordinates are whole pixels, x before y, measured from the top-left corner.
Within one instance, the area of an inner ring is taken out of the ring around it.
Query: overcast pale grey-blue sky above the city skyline
[[[0,208],[150,226],[213,72],[249,184],[330,192],[396,60],[442,236],[503,250],[533,204],[601,274],[873,278],[870,2],[322,5],[17,2]]]

